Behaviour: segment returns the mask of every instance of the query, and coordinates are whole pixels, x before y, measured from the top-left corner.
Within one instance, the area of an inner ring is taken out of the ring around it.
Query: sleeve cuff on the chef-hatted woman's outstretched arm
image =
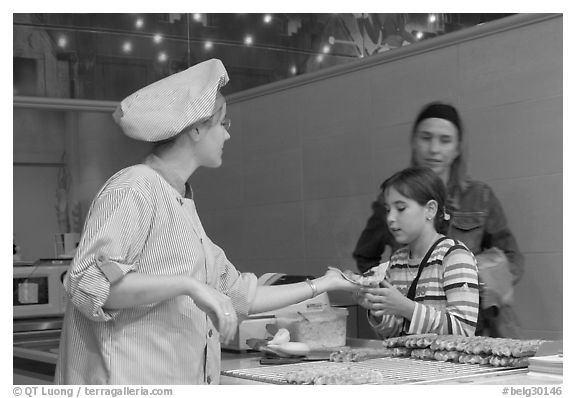
[[[247,317],[256,296],[257,277],[253,273],[240,272],[226,258],[224,251],[212,243],[212,251],[219,273],[219,290],[230,297],[238,317]]]

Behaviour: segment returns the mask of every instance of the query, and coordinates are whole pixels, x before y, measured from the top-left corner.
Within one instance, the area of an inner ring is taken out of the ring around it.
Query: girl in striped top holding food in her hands
[[[383,338],[421,333],[473,336],[478,270],[463,243],[438,232],[449,218],[444,183],[431,169],[413,167],[382,186],[387,225],[402,246],[392,254],[380,287],[364,288],[359,294],[371,326]]]

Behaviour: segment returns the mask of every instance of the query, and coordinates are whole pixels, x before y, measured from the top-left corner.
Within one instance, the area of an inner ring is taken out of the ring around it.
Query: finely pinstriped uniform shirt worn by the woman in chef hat
[[[111,177],[93,201],[64,281],[70,302],[56,384],[218,383],[219,334],[189,296],[102,308],[112,283],[139,272],[191,276],[247,315],[256,276],[238,272],[210,241],[191,195],[168,183],[174,180],[152,155]]]

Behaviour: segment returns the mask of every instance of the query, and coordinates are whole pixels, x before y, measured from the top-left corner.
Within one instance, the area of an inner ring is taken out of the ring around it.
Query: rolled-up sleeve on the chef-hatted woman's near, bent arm
[[[119,310],[104,303],[110,287],[138,268],[151,225],[152,207],[131,188],[102,192],[88,214],[64,286],[72,304],[94,321],[109,321]]]

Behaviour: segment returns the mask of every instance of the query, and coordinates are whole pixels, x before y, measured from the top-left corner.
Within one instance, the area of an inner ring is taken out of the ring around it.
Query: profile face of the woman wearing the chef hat
[[[230,139],[227,128],[229,119],[226,118],[226,102],[219,96],[216,100],[219,109],[212,119],[198,127],[201,139],[197,143],[197,154],[200,163],[205,167],[220,167],[222,165],[222,153],[224,142]]]

